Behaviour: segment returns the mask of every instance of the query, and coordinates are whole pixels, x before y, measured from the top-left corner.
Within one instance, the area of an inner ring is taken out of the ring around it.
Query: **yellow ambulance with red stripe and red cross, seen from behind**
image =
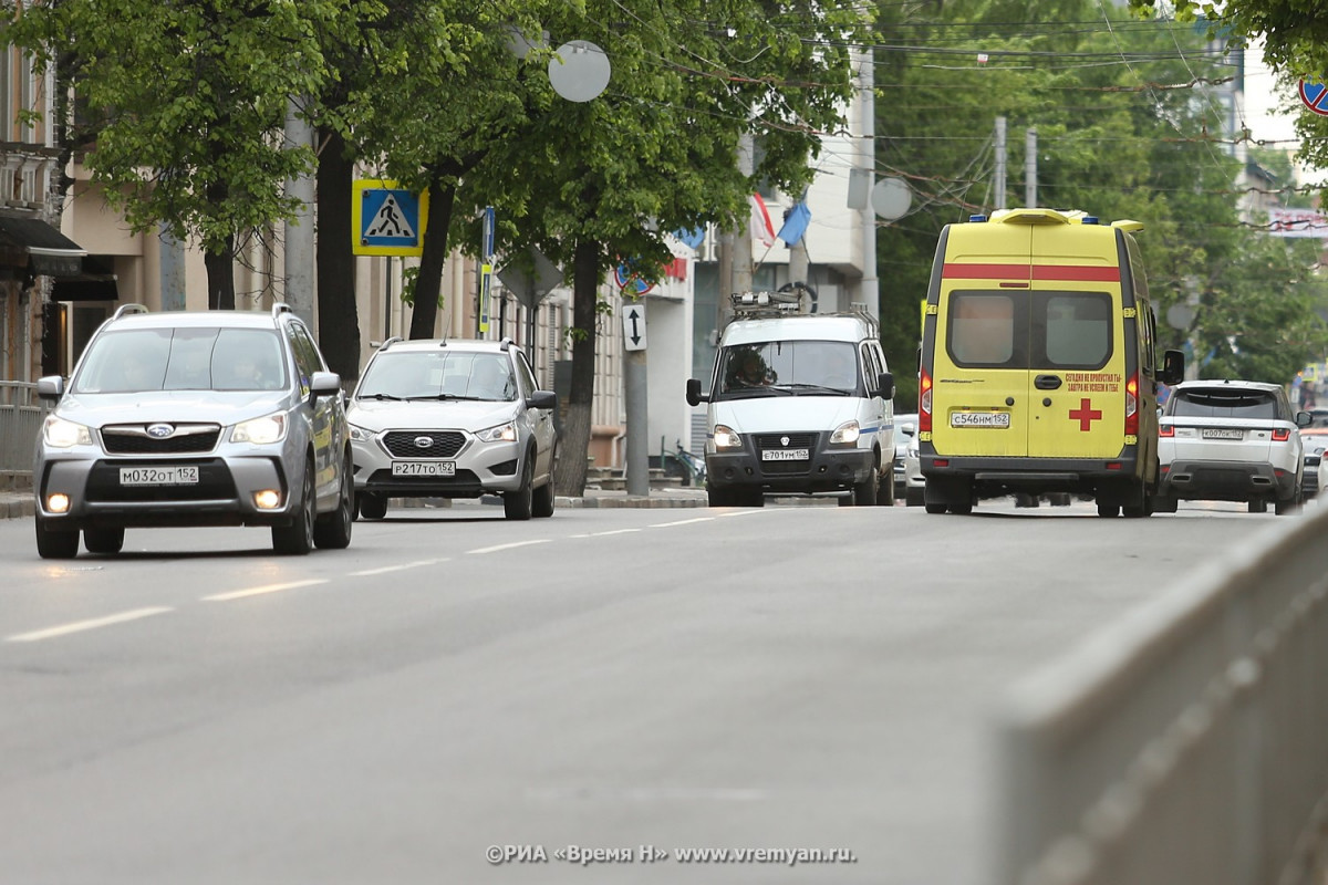
[[[1178,383],[1185,357],[1157,365],[1142,227],[1016,208],[942,231],[918,391],[928,513],[1048,492],[1153,512],[1157,385]]]

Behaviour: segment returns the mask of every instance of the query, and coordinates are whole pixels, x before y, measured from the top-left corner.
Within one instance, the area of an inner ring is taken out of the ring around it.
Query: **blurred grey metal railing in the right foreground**
[[[1303,885],[1328,808],[1328,508],[1015,686],[1000,885]]]

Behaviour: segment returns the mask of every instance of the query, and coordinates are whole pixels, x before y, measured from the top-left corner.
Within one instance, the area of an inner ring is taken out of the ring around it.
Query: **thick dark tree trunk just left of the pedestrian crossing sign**
[[[351,252],[351,183],[355,162],[335,131],[324,143],[317,171],[319,349],[341,383],[360,377],[360,317],[355,306],[355,253]]]

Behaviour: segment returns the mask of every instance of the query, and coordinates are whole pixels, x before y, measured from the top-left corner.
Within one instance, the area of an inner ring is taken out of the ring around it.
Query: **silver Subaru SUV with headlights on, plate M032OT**
[[[351,543],[353,486],[341,379],[284,304],[271,313],[149,313],[104,322],[56,403],[33,462],[37,552],[118,553],[126,527],[266,525],[279,553]]]

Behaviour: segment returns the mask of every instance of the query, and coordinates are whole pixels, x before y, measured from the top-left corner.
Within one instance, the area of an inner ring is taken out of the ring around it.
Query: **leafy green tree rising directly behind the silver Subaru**
[[[62,53],[92,118],[93,180],[135,232],[165,224],[195,238],[208,305],[231,308],[236,238],[291,218],[283,183],[313,166],[308,147],[280,138],[287,96],[315,93],[331,74],[311,34],[348,27],[356,9],[61,0],[24,8],[0,40],[32,50],[42,70]]]

